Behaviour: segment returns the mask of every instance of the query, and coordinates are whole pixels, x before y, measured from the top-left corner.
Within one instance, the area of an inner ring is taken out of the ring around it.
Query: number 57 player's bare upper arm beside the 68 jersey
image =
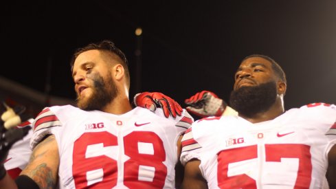
[[[208,188],[207,181],[203,178],[201,170],[199,169],[201,161],[192,159],[184,166],[184,177],[182,182],[183,189],[203,189]]]

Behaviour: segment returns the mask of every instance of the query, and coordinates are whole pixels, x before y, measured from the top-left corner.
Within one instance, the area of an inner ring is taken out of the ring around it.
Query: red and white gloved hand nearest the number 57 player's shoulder
[[[201,118],[208,116],[221,116],[227,107],[227,104],[221,98],[218,98],[211,91],[201,91],[184,101],[189,107],[186,107],[189,113]]]

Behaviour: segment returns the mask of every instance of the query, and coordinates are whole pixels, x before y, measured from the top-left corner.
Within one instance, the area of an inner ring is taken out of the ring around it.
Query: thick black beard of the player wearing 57
[[[252,118],[262,113],[276,102],[276,82],[270,81],[258,86],[244,86],[231,92],[230,106],[240,115]]]

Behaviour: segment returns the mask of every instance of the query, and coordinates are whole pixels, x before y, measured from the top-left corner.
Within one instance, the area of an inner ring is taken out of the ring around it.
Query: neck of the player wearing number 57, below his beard
[[[258,123],[273,120],[282,113],[284,113],[283,103],[280,100],[276,100],[276,102],[265,112],[256,113],[251,116],[239,114],[239,116],[251,123]]]

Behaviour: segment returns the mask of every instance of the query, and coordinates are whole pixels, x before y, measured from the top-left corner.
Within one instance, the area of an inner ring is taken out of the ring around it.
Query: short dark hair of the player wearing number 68
[[[76,49],[76,51],[74,52],[71,61],[70,61],[70,66],[71,66],[71,72],[74,69],[74,63],[76,58],[78,57],[78,55],[82,54],[83,52],[87,52],[89,50],[101,50],[101,51],[106,51],[109,52],[111,54],[116,55],[118,58],[120,58],[121,60],[121,64],[125,69],[125,75],[128,81],[128,87],[130,85],[130,76],[129,76],[129,71],[128,71],[128,61],[126,59],[125,54],[118,49],[117,47],[115,47],[115,44],[112,41],[109,40],[104,40],[104,41],[100,41],[98,43],[90,43],[89,45],[85,46],[85,47],[80,47],[78,49]]]

